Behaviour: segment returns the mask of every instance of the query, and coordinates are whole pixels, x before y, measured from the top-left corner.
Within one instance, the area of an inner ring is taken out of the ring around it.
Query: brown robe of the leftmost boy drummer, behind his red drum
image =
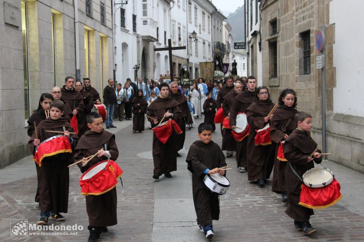
[[[40,142],[57,134],[45,132],[45,130],[74,132],[65,118],[52,120],[48,118],[39,123],[36,127]],[[73,139],[72,150],[76,146],[78,137],[70,135]],[[29,139],[29,148],[34,154],[35,133]],[[68,164],[72,163],[72,154],[60,153],[58,155],[46,157],[39,167],[39,204],[40,211],[53,211],[54,213],[67,213],[68,209],[68,188],[69,171]]]

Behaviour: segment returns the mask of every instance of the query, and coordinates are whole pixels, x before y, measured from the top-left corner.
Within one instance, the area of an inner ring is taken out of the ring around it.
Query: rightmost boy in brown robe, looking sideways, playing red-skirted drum
[[[315,233],[309,223],[309,217],[313,215],[313,210],[298,205],[299,195],[301,192],[301,181],[293,173],[293,170],[299,177],[308,170],[313,168],[313,162],[319,164],[322,157],[319,150],[316,150],[317,143],[310,136],[312,128],[311,115],[305,112],[297,112],[294,116],[297,128],[288,136],[283,146],[284,158],[289,162],[285,166],[284,176],[288,197],[288,208],[285,213],[294,220],[294,227],[297,231],[303,231],[304,235]]]

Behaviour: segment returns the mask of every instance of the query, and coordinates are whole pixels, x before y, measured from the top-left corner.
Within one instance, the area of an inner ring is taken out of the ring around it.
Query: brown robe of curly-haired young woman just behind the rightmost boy
[[[279,142],[284,139],[284,135],[290,135],[292,131],[297,127],[297,123],[294,121],[294,115],[297,113],[295,108],[289,108],[287,106],[279,106],[273,113],[273,117],[270,121],[270,138],[274,142],[274,168],[273,179],[271,185],[271,191],[275,193],[285,192],[285,178],[284,168],[287,164],[285,161],[277,159]]]

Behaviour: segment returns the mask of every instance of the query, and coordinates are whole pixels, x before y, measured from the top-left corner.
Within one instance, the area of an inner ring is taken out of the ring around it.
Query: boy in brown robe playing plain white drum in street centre
[[[199,140],[189,147],[186,158],[187,169],[192,173],[192,195],[197,224],[207,239],[213,237],[212,220],[218,220],[220,208],[218,195],[207,190],[202,179],[206,174],[224,175],[225,171],[220,170],[219,167],[226,167],[225,156],[211,137],[210,124],[198,125]]]

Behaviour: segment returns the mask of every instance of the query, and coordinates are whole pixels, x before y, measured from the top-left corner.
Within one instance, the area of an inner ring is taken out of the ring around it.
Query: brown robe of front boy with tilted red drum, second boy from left
[[[115,161],[119,155],[115,143],[115,136],[107,131],[102,130],[101,133],[93,131],[86,131],[74,151],[73,159],[75,161],[81,160],[83,157],[88,157],[95,154],[98,150],[103,148],[110,152],[110,160]],[[78,167],[82,173],[87,171],[91,166],[100,161],[107,160],[107,157],[94,157],[87,165],[82,167],[79,163]],[[88,216],[88,223],[91,227],[107,227],[117,224],[116,213],[116,187],[101,195],[87,195],[86,196],[86,211]]]

